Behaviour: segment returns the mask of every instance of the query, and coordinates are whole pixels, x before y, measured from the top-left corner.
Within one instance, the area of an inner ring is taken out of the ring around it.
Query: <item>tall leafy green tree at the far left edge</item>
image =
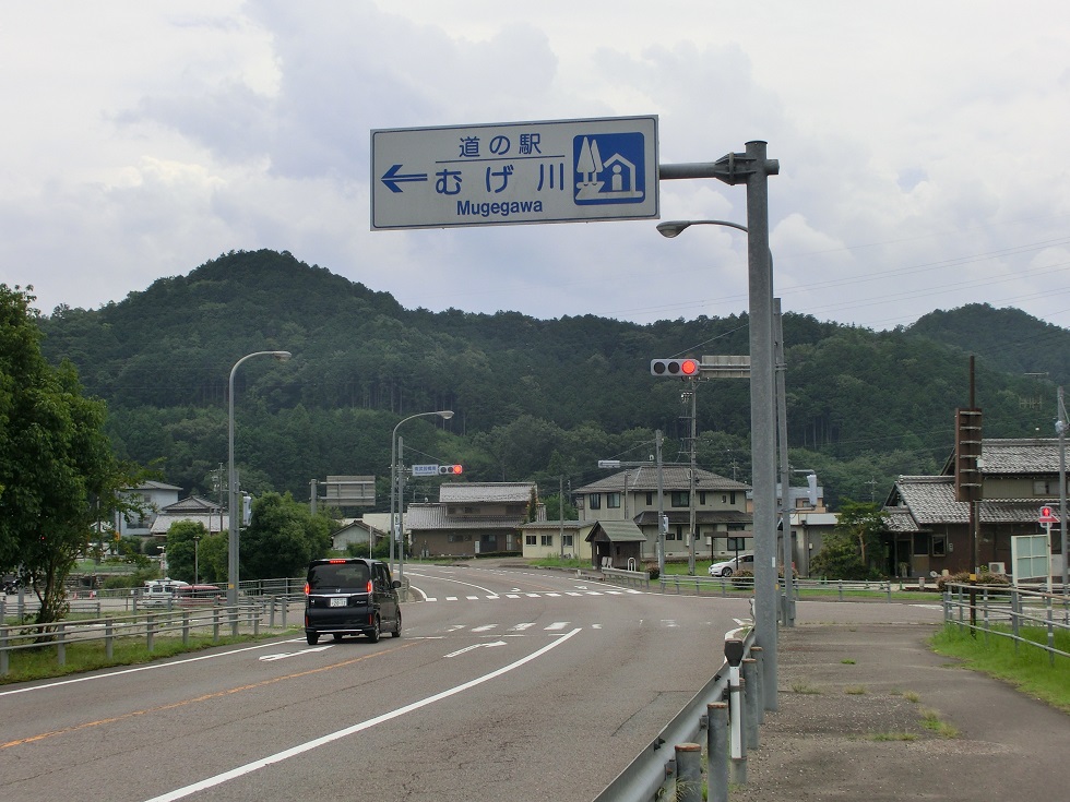
[[[105,405],[83,397],[73,364],[41,356],[34,296],[0,284],[0,571],[37,596],[36,622],[67,611],[64,584],[98,516],[136,477],[104,434]]]

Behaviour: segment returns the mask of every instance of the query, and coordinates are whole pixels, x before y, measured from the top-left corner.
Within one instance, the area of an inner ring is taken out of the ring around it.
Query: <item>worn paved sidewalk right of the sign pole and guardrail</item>
[[[1070,716],[955,668],[926,646],[935,629],[782,630],[778,709],[732,802],[1070,799]],[[958,734],[923,726],[931,710]]]

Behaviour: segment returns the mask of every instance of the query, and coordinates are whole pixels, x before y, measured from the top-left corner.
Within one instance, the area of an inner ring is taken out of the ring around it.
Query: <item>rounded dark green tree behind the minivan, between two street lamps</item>
[[[241,575],[273,579],[305,573],[310,560],[331,549],[331,519],[312,515],[289,493],[265,493],[252,506],[252,520],[241,532]]]

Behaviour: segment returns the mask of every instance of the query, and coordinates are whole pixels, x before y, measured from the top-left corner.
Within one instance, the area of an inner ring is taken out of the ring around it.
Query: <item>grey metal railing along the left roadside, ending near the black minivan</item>
[[[297,597],[265,597],[265,603],[176,606],[171,610],[153,610],[142,613],[104,615],[92,619],[67,619],[51,624],[21,623],[3,625],[0,618],[0,677],[10,673],[11,655],[25,649],[55,648],[58,666],[67,662],[67,647],[73,643],[103,641],[105,655],[112,659],[115,642],[119,638],[144,638],[150,654],[159,635],[181,633],[188,645],[194,631],[212,631],[218,642],[223,629],[238,636],[242,631],[260,634],[261,626],[285,629],[290,605]],[[299,599],[304,603],[304,596]],[[0,605],[2,610],[2,605]],[[276,624],[277,622],[277,624]]]

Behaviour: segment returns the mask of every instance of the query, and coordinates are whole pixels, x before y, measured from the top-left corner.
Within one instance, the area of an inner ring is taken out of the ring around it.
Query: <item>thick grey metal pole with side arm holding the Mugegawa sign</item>
[[[754,512],[754,627],[762,647],[765,709],[776,709],[776,411],[773,352],[773,271],[769,252],[769,177],[780,171],[764,142],[713,164],[659,165],[666,179],[716,178],[747,184],[747,277],[750,321],[750,426]]]

